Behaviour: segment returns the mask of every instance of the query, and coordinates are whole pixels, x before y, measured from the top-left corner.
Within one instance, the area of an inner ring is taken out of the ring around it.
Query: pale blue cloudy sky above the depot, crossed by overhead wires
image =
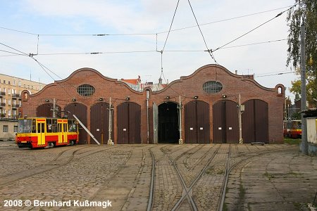
[[[115,79],[139,75],[142,82],[158,82],[163,70],[163,82],[172,82],[216,60],[231,72],[254,74],[263,87],[284,84],[294,98],[288,89],[298,76],[286,66],[287,12],[275,18],[294,0],[177,4],[0,0],[0,73],[49,84],[94,68]]]

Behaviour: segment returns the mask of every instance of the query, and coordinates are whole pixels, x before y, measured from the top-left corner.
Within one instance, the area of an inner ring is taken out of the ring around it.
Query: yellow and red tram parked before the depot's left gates
[[[18,120],[15,142],[19,148],[45,148],[78,143],[76,120],[50,117],[25,117]]]

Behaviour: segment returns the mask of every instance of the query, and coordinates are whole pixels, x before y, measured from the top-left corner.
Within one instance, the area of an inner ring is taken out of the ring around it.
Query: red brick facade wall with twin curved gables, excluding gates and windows
[[[218,81],[223,84],[223,89],[217,94],[207,94],[202,86],[205,82]],[[82,84],[92,85],[96,91],[92,96],[80,96],[77,94],[77,87]],[[278,87],[282,88],[282,93],[278,94]],[[153,123],[151,115],[151,105],[153,102],[159,105],[166,101],[166,96],[170,96],[168,101],[177,102],[181,96],[182,104],[185,105],[189,101],[194,100],[194,96],[199,97],[199,101],[205,101],[210,105],[210,137],[211,143],[213,139],[213,111],[212,106],[217,101],[223,100],[223,94],[226,99],[238,101],[238,96],[241,96],[241,102],[249,99],[260,99],[268,103],[268,130],[270,143],[282,143],[282,120],[283,120],[283,103],[284,103],[284,86],[278,84],[275,88],[268,89],[261,87],[254,79],[245,78],[242,75],[235,75],[226,70],[220,65],[205,65],[196,70],[192,75],[180,77],[179,80],[171,82],[168,87],[161,91],[151,92],[149,99],[149,117],[150,117],[150,143],[153,137]],[[117,125],[116,125],[116,107],[125,102],[125,98],[130,96],[130,101],[138,103],[141,106],[141,139],[142,143],[147,143],[147,96],[146,92],[138,92],[130,89],[123,82],[118,82],[116,79],[104,77],[97,70],[90,68],[82,68],[76,70],[68,78],[61,81],[56,81],[54,84],[49,84],[37,94],[30,95],[28,100],[23,100],[23,115],[35,116],[37,106],[45,103],[45,99],[57,99],[57,105],[63,108],[69,103],[73,103],[72,98],[76,99],[77,103],[82,103],[87,106],[87,122],[90,129],[90,107],[94,103],[99,102],[99,98],[104,98],[108,102],[112,98],[114,107],[114,142],[117,141]],[[182,110],[182,120],[184,120],[184,110]],[[186,139],[182,121],[182,139]],[[88,139],[89,141],[89,139]],[[89,143],[89,142],[88,142]]]

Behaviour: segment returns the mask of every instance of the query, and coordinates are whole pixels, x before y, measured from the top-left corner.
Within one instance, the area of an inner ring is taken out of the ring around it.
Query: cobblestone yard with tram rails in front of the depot
[[[317,191],[317,159],[299,153],[298,146],[29,150],[6,141],[0,142],[0,210],[147,210],[152,177],[149,210],[218,210],[226,167],[230,174],[223,210],[308,210]]]

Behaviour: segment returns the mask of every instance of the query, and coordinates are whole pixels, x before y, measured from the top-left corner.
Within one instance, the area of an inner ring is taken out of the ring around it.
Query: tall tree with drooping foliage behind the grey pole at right
[[[291,63],[294,67],[300,64],[300,27],[305,25],[305,48],[306,48],[306,79],[307,100],[316,103],[317,98],[317,0],[295,0],[296,6],[287,13],[287,22],[290,27],[288,34],[287,66]],[[294,94],[300,94],[300,80],[292,82]]]

